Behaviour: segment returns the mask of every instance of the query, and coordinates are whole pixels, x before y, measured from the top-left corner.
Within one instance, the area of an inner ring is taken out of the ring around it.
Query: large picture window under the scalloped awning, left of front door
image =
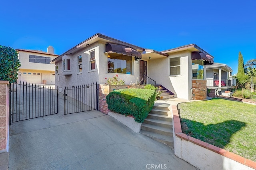
[[[132,56],[108,53],[108,73],[132,74]]]

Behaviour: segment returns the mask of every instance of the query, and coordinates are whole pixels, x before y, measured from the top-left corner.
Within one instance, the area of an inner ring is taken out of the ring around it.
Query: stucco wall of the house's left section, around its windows
[[[95,61],[96,61],[96,69],[95,71],[89,70],[89,52],[95,50]],[[78,73],[78,59],[77,57],[82,55],[82,73]],[[84,49],[80,51],[70,54],[64,55],[63,59],[70,59],[70,74],[64,76],[62,72],[62,61],[56,62],[58,65],[58,73],[56,75],[55,84],[56,86],[67,87],[67,86],[76,86],[76,85],[84,85],[87,83],[97,82],[99,84],[107,83],[106,78],[114,77],[118,75],[119,79],[123,79],[126,85],[130,85],[134,83],[136,78],[139,78],[139,69],[140,65],[135,63],[134,57],[132,57],[132,74],[121,74],[121,73],[108,73],[108,55],[105,53],[105,43],[104,42],[96,42],[92,45],[88,45]],[[66,72],[65,72],[66,73]]]

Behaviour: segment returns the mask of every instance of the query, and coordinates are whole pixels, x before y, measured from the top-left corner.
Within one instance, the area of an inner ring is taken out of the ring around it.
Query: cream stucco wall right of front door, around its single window
[[[170,76],[169,59],[180,57],[180,75]],[[168,57],[148,60],[148,77],[172,91],[174,97],[191,100],[192,60],[190,51],[170,53]]]

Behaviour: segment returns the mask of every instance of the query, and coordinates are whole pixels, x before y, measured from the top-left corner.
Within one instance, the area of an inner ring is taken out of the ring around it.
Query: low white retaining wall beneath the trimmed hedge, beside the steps
[[[108,111],[108,115],[118,120],[122,124],[126,125],[128,128],[132,129],[134,132],[140,132],[140,126],[142,123],[137,123],[134,121],[134,117],[121,115],[119,113],[114,113],[112,111]]]

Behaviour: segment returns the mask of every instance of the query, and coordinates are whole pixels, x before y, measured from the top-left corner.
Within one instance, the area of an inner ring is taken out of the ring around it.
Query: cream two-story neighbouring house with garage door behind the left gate
[[[54,48],[49,46],[47,52],[31,49],[16,49],[20,60],[18,81],[33,84],[55,84],[55,67],[51,60],[58,57]]]

